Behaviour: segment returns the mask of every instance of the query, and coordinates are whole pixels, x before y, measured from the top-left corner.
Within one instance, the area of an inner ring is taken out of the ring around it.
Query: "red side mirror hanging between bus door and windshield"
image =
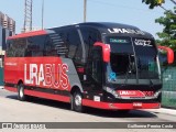
[[[101,42],[96,42],[94,46],[100,46],[102,48],[102,59],[105,63],[110,62],[110,45]]]

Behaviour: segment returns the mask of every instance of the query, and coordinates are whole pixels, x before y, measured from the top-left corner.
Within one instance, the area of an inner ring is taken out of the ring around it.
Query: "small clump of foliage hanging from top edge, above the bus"
[[[165,0],[142,0],[142,2],[150,4],[150,9],[153,9],[154,7],[157,7],[164,3]]]

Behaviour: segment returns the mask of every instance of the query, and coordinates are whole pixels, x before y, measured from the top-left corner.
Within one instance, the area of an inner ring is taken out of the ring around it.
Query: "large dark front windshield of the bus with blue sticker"
[[[107,64],[108,81],[116,84],[160,82],[160,65],[154,40],[107,36],[110,44],[110,63]]]

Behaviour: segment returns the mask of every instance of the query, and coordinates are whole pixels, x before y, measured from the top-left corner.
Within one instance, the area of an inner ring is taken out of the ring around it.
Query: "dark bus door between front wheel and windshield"
[[[85,89],[88,91],[89,98],[100,101],[99,96],[102,95],[103,82],[103,61],[102,48],[97,46],[92,47],[91,55],[88,58],[86,66],[87,80],[84,82]]]

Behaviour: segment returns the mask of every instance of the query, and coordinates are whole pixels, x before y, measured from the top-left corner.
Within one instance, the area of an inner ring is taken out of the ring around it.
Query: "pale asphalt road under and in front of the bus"
[[[69,110],[68,103],[31,98],[19,101],[16,94],[0,89],[0,122],[176,122],[176,116],[133,110],[128,114],[87,108],[85,113]],[[103,124],[103,127],[107,124]],[[0,132],[7,132],[0,130]],[[30,130],[29,130],[30,131]],[[37,130],[43,132],[43,130]],[[46,131],[46,130],[45,130]],[[57,130],[50,130],[57,131]],[[90,131],[80,129],[63,129],[63,131]],[[96,131],[155,132],[158,129],[97,129]],[[174,132],[174,129],[161,129],[161,132]],[[16,132],[16,131],[15,131]]]

